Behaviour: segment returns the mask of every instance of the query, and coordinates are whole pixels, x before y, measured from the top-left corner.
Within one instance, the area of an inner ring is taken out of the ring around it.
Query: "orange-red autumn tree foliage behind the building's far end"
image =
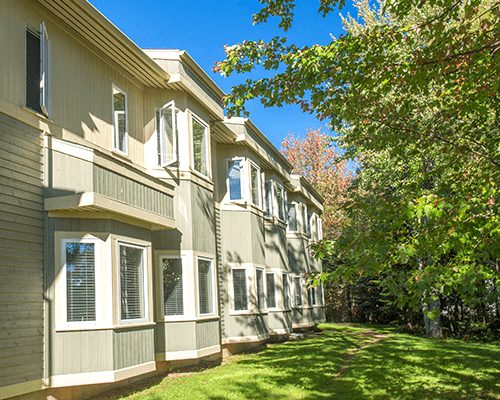
[[[338,160],[333,141],[320,128],[310,129],[305,137],[289,134],[281,142],[281,152],[293,165],[293,173],[307,178],[325,199],[322,215],[324,238],[337,237],[346,223],[343,207],[352,181],[347,161]]]

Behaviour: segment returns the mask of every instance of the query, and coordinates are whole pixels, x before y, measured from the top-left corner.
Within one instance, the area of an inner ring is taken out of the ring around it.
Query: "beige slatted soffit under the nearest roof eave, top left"
[[[147,87],[167,88],[170,76],[86,0],[37,0],[85,42]]]

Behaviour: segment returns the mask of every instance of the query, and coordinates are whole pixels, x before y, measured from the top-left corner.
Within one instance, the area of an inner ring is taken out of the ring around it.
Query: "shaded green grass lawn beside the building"
[[[396,333],[370,344],[374,337],[362,328],[320,328],[312,338],[166,377],[130,398],[500,399],[499,346]]]

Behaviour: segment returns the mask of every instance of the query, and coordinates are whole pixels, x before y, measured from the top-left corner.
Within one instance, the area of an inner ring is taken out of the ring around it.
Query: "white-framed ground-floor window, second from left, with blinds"
[[[120,321],[146,319],[146,260],[144,247],[119,243]]]

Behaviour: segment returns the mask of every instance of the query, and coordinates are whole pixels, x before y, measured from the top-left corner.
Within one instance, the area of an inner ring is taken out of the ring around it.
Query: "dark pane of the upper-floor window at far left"
[[[26,107],[42,114],[40,106],[40,38],[26,31]]]

